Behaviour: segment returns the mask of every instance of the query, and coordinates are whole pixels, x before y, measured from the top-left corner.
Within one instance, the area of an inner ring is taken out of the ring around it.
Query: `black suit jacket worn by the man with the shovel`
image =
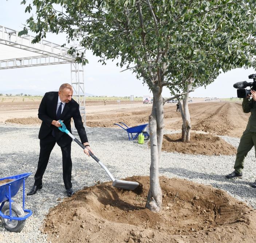
[[[59,146],[63,147],[66,146],[68,143],[71,143],[72,138],[69,137],[66,133],[60,131],[58,127],[51,124],[53,120],[57,120],[56,109],[58,97],[58,92],[47,92],[41,101],[41,104],[38,109],[38,118],[42,120],[42,124],[39,130],[38,138],[46,138],[49,134],[52,133],[52,129],[54,129],[56,142]],[[70,102],[65,104],[63,112],[60,117],[60,120],[63,120],[63,123],[66,125],[70,133],[71,117],[74,120],[75,127],[78,131],[81,142],[88,142],[86,131],[84,129],[82,118],[79,111],[79,104],[73,99],[71,99]]]

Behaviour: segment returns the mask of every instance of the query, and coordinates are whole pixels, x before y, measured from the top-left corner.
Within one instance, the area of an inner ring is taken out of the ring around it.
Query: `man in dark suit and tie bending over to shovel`
[[[40,154],[38,168],[35,174],[35,183],[27,195],[34,195],[37,190],[42,189],[42,178],[46,170],[52,149],[57,143],[62,151],[63,181],[68,197],[74,194],[71,183],[71,142],[66,133],[58,129],[59,120],[62,120],[67,129],[71,132],[71,118],[73,118],[76,130],[83,145],[86,147],[84,153],[88,156],[90,145],[88,143],[86,131],[83,126],[79,111],[79,104],[72,99],[73,89],[70,84],[62,84],[59,92],[47,92],[39,106],[38,117],[42,120],[38,138],[40,139]]]

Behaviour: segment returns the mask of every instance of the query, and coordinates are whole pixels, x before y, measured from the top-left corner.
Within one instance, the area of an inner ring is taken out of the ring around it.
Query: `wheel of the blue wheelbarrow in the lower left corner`
[[[2,208],[2,212],[4,215],[10,215],[9,203],[4,204]],[[12,216],[18,217],[18,218],[24,217],[25,212],[22,209],[22,207],[20,207],[20,205],[16,203],[12,203]],[[4,219],[3,217],[1,217],[1,220],[2,220],[3,226],[11,232],[16,232],[16,233],[20,232],[25,225],[25,219],[10,221],[9,219]]]

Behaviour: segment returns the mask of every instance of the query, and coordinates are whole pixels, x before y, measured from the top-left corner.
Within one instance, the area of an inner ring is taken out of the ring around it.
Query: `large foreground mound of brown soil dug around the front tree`
[[[128,191],[103,183],[85,187],[52,208],[42,232],[52,243],[255,242],[256,212],[222,190],[160,177],[162,210],[145,208],[149,177]]]

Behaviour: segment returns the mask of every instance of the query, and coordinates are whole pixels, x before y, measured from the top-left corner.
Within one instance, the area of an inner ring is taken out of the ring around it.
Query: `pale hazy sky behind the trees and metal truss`
[[[20,2],[21,0],[0,0],[0,25],[17,31],[23,29],[31,14],[25,13],[25,7],[20,5]],[[31,35],[35,36],[34,33]],[[66,42],[64,34],[49,33],[47,40],[60,45]],[[107,65],[102,66],[92,53],[88,52],[86,58],[89,61],[89,64],[84,66],[84,89],[87,94],[94,96],[153,96],[148,87],[142,84],[142,80],[137,80],[135,74],[130,70],[120,72],[125,68],[117,67],[116,61],[108,61]],[[1,58],[0,52],[1,59],[4,58]],[[248,75],[252,73],[256,73],[252,68],[221,73],[206,89],[198,88],[190,93],[190,97],[236,97],[236,89],[233,88],[233,84],[244,80],[251,82],[252,80],[248,80]],[[44,94],[47,91],[58,90],[59,86],[65,82],[71,82],[70,64],[0,70],[0,93],[15,94],[15,92],[19,93],[20,90],[25,90],[26,93]],[[167,88],[164,88],[162,96],[170,97]]]

